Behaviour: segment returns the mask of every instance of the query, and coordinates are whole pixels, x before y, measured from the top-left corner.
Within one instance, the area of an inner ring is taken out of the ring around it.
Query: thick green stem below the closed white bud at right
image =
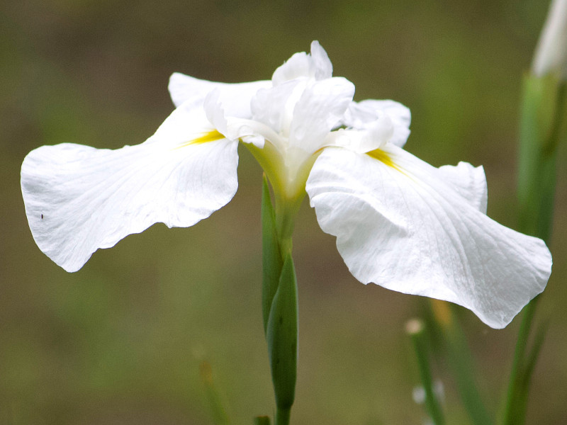
[[[524,79],[520,121],[520,231],[533,234],[549,244],[553,221],[556,152],[566,133],[567,84],[556,77],[528,75]],[[508,384],[503,425],[525,421],[530,374],[543,335],[526,356],[537,300],[524,307]]]

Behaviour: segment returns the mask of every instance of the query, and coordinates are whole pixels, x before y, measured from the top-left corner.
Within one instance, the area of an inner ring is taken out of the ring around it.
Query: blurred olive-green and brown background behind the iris
[[[68,274],[35,246],[19,169],[40,145],[135,145],[173,106],[172,72],[267,79],[320,40],[355,99],[412,111],[406,149],[485,166],[488,214],[514,227],[518,101],[541,0],[7,0],[0,6],[0,424],[211,424],[208,361],[232,424],[274,406],[260,310],[262,171],[246,149],[234,200],[188,229],[155,225]],[[550,319],[529,424],[567,417],[566,149],[558,166]],[[300,341],[295,424],[421,424],[405,322],[418,297],[361,285],[305,203],[296,225]],[[495,331],[461,310],[491,412],[519,320]],[[450,424],[467,424],[439,367]]]

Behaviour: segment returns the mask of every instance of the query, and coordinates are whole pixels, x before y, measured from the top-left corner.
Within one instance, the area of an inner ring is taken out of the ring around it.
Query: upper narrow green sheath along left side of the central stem
[[[268,180],[262,183],[262,317],[267,332],[271,302],[278,289],[283,260],[276,231],[276,215],[271,204]]]

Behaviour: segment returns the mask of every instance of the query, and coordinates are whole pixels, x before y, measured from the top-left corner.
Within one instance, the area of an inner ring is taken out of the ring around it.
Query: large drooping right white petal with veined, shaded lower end
[[[306,190],[362,283],[455,302],[502,328],[544,290],[551,254],[484,215],[456,180],[393,145],[371,154],[330,147]]]

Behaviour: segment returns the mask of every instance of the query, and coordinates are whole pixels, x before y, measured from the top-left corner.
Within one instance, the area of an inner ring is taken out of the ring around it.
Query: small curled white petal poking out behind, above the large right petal
[[[344,113],[342,124],[357,130],[365,130],[373,123],[387,116],[392,120],[393,135],[389,142],[403,147],[410,135],[410,109],[395,101],[376,101],[368,99],[352,102]]]

